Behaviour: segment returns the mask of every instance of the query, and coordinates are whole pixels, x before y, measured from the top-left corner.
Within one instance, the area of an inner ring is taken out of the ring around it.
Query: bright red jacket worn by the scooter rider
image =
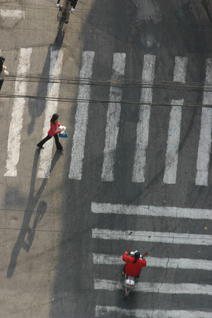
[[[142,266],[146,266],[146,261],[143,259],[137,259],[137,262],[133,264],[135,259],[136,257],[128,256],[127,253],[124,253],[124,255],[122,256],[122,260],[127,263],[125,266],[125,273],[128,276],[139,276],[139,274],[141,273]]]

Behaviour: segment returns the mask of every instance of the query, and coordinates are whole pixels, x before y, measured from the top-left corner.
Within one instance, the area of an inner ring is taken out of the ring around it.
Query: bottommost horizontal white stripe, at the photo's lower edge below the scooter
[[[95,317],[135,317],[135,318],[212,318],[212,312],[198,312],[185,310],[146,310],[125,309],[114,306],[96,306]],[[114,316],[113,316],[114,317]]]

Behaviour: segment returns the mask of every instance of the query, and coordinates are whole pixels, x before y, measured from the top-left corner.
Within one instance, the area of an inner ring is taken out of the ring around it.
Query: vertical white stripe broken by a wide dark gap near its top
[[[173,81],[186,82],[186,68],[188,58],[175,57],[174,77]],[[171,104],[183,105],[184,99],[172,99]],[[165,171],[163,182],[168,184],[176,183],[178,150],[180,143],[180,128],[182,119],[182,107],[172,106],[169,119],[168,140],[166,148]]]

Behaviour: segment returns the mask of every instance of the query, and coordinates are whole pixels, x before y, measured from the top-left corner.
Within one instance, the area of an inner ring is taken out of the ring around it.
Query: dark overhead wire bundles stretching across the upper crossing
[[[173,92],[212,92],[212,84],[205,85],[201,82],[187,82],[179,83],[173,81],[142,81],[137,79],[123,79],[123,80],[113,80],[107,78],[68,78],[68,77],[54,77],[54,76],[43,76],[43,75],[21,75],[21,74],[10,74],[6,77],[1,75],[0,79],[6,81],[24,81],[24,82],[38,82],[38,83],[60,83],[68,85],[90,85],[90,86],[109,86],[109,87],[121,87],[121,88],[131,88],[131,89],[163,89],[171,90]],[[50,100],[50,101],[60,101],[60,102],[77,102],[77,103],[122,103],[122,104],[134,104],[134,105],[150,105],[150,106],[172,106],[171,102],[148,102],[140,100],[111,100],[111,99],[83,99],[83,98],[74,98],[70,96],[57,96],[57,95],[35,95],[35,94],[17,94],[11,92],[0,93],[0,97],[4,98],[31,98],[38,100]],[[207,107],[211,108],[212,104],[203,105],[198,103],[181,103],[175,104],[175,106],[187,106],[187,107]]]

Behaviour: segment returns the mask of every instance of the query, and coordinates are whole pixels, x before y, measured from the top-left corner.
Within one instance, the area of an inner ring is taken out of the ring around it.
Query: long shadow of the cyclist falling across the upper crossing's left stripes
[[[52,74],[49,74],[50,70],[50,62],[51,62],[51,51],[60,51],[61,46],[63,44],[63,39],[64,39],[65,32],[62,32],[61,37],[56,41],[54,41],[53,44],[50,44],[48,47],[48,53],[46,57],[46,61],[43,67],[43,71],[41,73],[41,78],[36,90],[36,96],[37,97],[46,97],[47,95],[47,90],[48,90],[48,82],[44,82],[45,77],[49,77]],[[51,83],[53,85],[53,83]],[[50,89],[49,89],[50,90]],[[41,99],[36,99],[36,98],[29,98],[28,101],[28,107],[29,107],[29,115],[31,116],[31,122],[28,126],[28,135],[31,135],[34,131],[35,128],[35,121],[37,117],[40,117],[46,108],[46,103],[47,101],[41,100]]]

